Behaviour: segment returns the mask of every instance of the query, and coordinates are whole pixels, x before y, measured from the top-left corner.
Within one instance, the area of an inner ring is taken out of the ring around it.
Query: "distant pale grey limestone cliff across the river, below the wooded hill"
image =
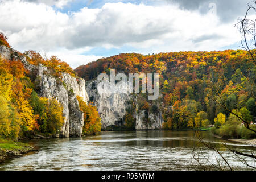
[[[120,84],[122,85],[122,84]],[[120,88],[115,88],[113,94],[102,93],[102,87],[98,88],[97,80],[86,82],[86,91],[89,100],[97,107],[101,117],[102,129],[106,129],[113,125],[122,125],[123,117],[126,114],[126,109],[129,107],[128,102],[134,101],[137,103],[137,97],[128,93],[120,93]],[[136,130],[158,130],[163,128],[162,113],[148,113],[148,119],[144,110],[134,110],[133,117],[135,118]]]

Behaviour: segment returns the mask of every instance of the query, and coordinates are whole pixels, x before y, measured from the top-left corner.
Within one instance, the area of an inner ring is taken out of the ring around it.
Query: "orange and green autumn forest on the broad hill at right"
[[[253,50],[253,53],[256,53]],[[228,137],[252,137],[245,134],[241,121],[233,121],[233,115],[213,101],[220,97],[229,110],[246,118],[256,117],[255,73],[256,67],[250,55],[242,50],[212,52],[170,52],[153,55],[122,53],[98,59],[75,71],[85,80],[109,73],[110,68],[124,73],[159,73],[158,101],[139,100],[139,109],[162,110],[165,129],[185,129],[214,125],[214,133]],[[156,106],[156,102],[162,105]],[[232,125],[230,125],[232,123]],[[231,127],[235,126],[235,129]],[[231,132],[232,130],[232,132]]]

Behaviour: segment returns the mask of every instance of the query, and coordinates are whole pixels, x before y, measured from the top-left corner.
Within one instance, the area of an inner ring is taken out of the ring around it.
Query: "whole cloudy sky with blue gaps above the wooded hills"
[[[234,24],[250,0],[0,0],[14,49],[56,55],[72,68],[123,52],[240,49]]]

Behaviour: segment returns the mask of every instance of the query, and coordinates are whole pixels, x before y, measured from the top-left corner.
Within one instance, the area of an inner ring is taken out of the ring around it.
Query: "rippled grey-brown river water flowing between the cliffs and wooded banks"
[[[246,144],[227,142],[208,131],[201,136],[213,144],[226,142],[243,152],[253,151]],[[92,137],[36,139],[27,141],[39,151],[0,164],[0,170],[193,170],[195,131],[103,131]],[[236,169],[249,169],[221,149]],[[203,157],[204,156],[204,157]],[[217,163],[216,154],[204,148],[201,161]],[[217,156],[218,159],[218,156]]]

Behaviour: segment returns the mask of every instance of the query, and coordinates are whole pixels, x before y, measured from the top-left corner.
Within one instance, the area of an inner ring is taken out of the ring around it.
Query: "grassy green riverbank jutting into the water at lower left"
[[[36,151],[36,149],[28,144],[0,139],[0,163],[7,159],[23,156],[31,151]]]

